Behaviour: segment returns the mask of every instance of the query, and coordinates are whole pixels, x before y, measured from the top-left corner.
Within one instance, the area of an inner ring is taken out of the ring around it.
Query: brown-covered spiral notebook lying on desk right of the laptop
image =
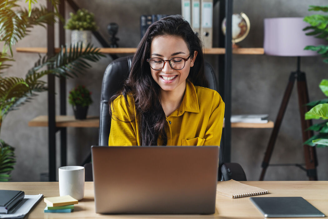
[[[253,195],[267,194],[268,190],[239,183],[235,180],[229,180],[218,182],[216,186],[216,193],[228,196],[230,198],[241,198]]]

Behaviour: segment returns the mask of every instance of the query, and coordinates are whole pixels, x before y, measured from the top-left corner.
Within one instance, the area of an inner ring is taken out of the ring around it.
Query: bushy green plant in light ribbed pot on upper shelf
[[[94,14],[86,9],[79,9],[76,14],[70,13],[71,18],[64,26],[65,29],[72,30],[71,43],[82,42],[83,47],[91,43],[91,33],[98,29],[94,22]]]

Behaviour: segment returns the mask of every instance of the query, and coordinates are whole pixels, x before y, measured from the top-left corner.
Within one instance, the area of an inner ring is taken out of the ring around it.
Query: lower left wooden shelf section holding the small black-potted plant
[[[29,121],[29,126],[48,126],[48,116],[38,116]],[[74,116],[56,116],[56,127],[99,127],[98,116],[87,116],[85,120],[76,120]]]

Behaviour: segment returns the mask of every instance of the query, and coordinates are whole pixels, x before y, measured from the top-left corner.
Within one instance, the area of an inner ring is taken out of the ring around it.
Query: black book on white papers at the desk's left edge
[[[7,214],[11,208],[18,207],[24,196],[25,193],[23,191],[0,190],[0,213]]]

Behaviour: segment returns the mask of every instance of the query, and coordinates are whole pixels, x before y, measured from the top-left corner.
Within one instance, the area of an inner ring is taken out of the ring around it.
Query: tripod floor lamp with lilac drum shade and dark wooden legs
[[[312,125],[311,120],[305,120],[304,114],[309,109],[305,106],[309,102],[309,95],[306,84],[305,73],[300,71],[300,57],[318,55],[317,52],[303,50],[308,45],[322,44],[321,39],[314,36],[307,36],[302,31],[309,26],[302,17],[281,17],[264,19],[264,53],[275,56],[295,56],[297,57],[297,70],[291,72],[289,81],[279,108],[277,119],[272,130],[270,140],[265,151],[262,162],[262,172],[259,180],[264,179],[265,171],[269,166],[270,158],[277,140],[278,131],[284,117],[287,104],[295,81],[297,81],[298,107],[301,120],[303,142],[313,136],[312,131],[305,131]],[[275,164],[280,166],[296,165],[307,172],[309,180],[318,180],[317,177],[317,153],[316,148],[308,145],[303,146],[305,167],[301,164]]]

